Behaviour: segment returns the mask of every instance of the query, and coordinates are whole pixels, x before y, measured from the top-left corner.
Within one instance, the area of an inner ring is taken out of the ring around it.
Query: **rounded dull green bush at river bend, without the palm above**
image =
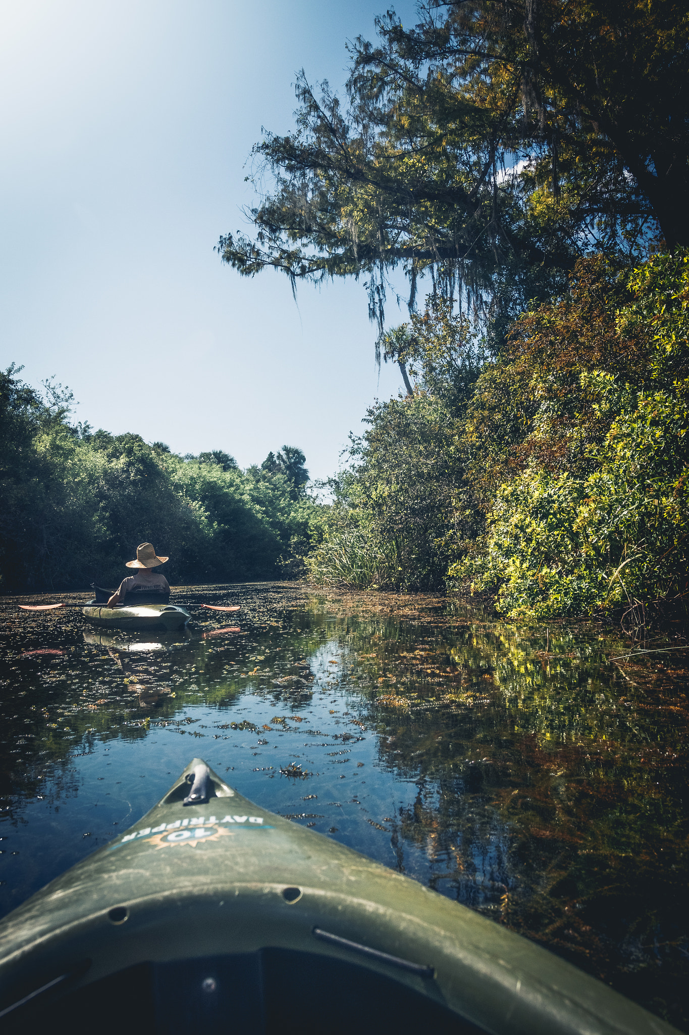
[[[419,388],[376,404],[366,419],[349,469],[331,482],[336,500],[309,573],[319,584],[442,587],[447,565],[475,534],[457,416]]]

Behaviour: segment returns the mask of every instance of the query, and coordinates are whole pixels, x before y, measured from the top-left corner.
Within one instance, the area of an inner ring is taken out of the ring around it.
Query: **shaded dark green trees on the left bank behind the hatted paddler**
[[[241,471],[222,450],[178,456],[139,435],[70,421],[71,395],[0,373],[0,591],[119,585],[136,545],[169,555],[171,584],[294,578],[314,504],[304,453]]]

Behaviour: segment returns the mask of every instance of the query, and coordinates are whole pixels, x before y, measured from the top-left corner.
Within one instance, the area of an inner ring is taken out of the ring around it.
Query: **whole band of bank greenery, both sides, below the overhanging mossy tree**
[[[0,374],[0,587],[107,587],[137,543],[177,584],[299,578],[490,593],[512,617],[689,593],[689,253],[580,260],[497,358],[451,301],[387,332],[406,396],[377,403],[323,507],[304,453],[241,471],[70,421],[71,396]]]

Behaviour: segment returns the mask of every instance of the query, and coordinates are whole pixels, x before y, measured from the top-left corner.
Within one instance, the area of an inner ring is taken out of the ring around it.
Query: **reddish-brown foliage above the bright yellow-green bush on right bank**
[[[483,509],[500,484],[527,463],[552,474],[595,468],[612,416],[595,407],[583,371],[602,371],[650,384],[648,321],[618,326],[633,302],[618,264],[580,260],[566,291],[532,307],[511,326],[497,363],[483,366],[467,408],[468,476]]]

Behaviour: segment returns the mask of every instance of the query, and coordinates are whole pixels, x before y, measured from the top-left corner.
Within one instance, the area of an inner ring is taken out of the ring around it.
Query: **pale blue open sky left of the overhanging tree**
[[[244,164],[292,126],[294,73],[346,79],[385,0],[22,0],[0,9],[0,360],[55,374],[76,418],[242,467],[283,443],[333,473],[396,367],[354,282],[248,280]],[[414,4],[397,4],[403,21]],[[388,323],[406,318],[394,303]]]

